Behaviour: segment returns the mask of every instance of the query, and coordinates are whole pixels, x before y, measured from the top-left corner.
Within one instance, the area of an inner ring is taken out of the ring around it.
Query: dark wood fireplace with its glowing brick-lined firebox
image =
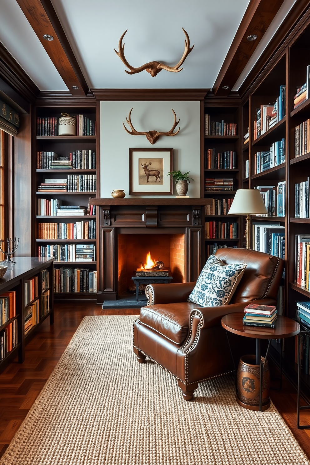
[[[205,199],[92,199],[99,206],[97,302],[119,299],[151,252],[172,282],[196,281],[204,264]]]

